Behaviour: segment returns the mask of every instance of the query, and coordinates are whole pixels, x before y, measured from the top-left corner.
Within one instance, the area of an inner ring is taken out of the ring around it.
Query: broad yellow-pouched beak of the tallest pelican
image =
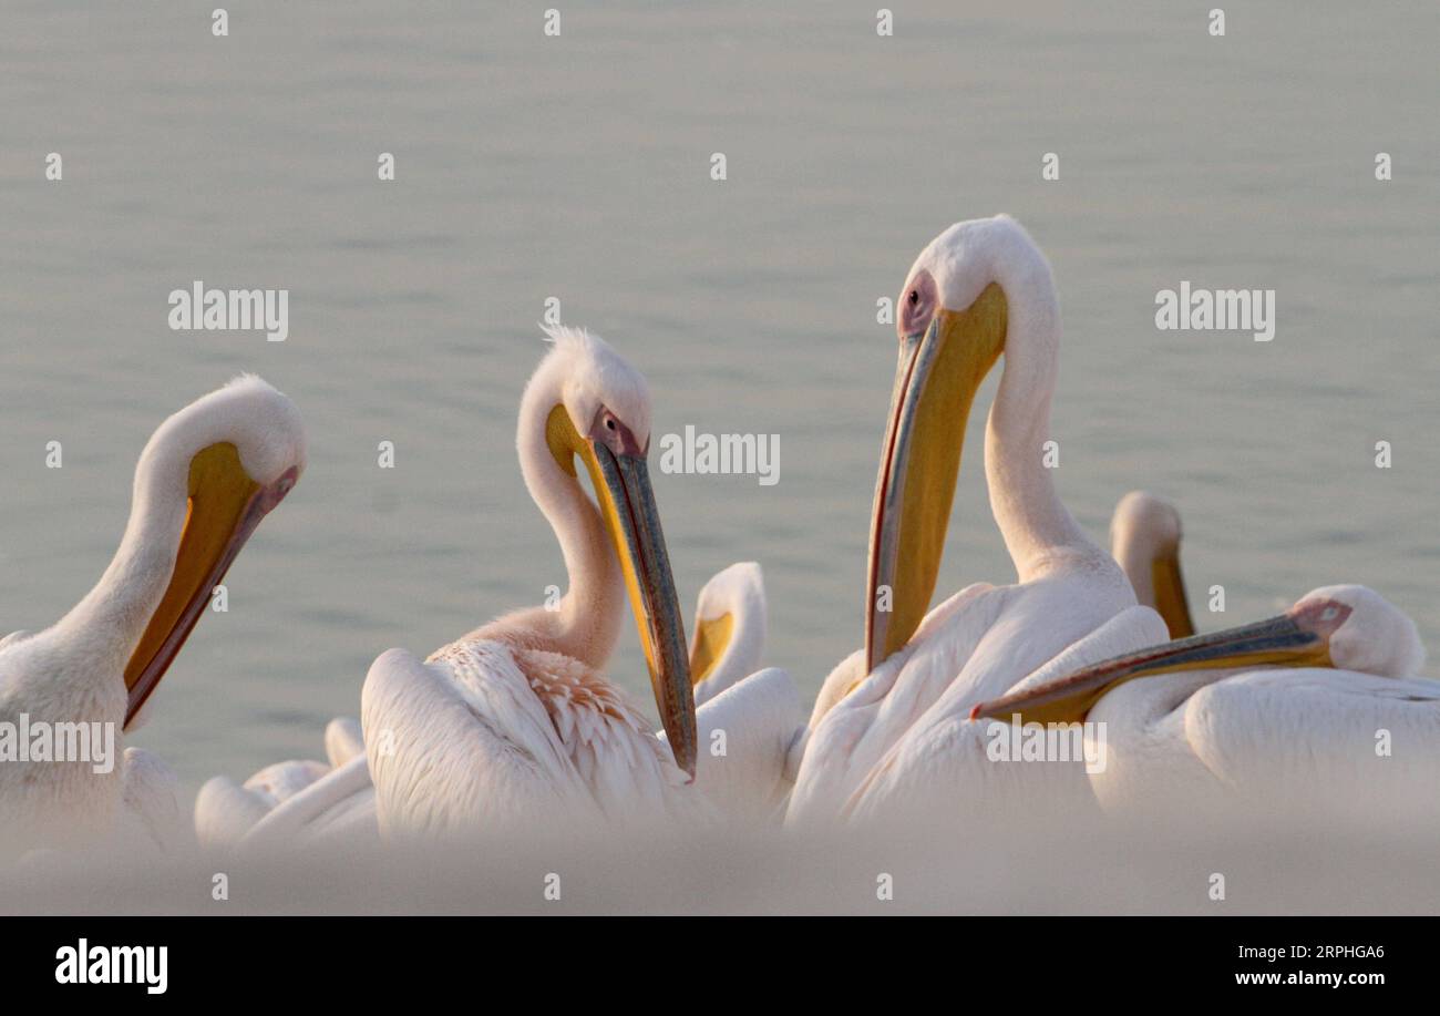
[[[930,605],[971,402],[1004,349],[1005,320],[1005,294],[991,284],[966,310],[940,308],[900,339],[870,523],[867,673],[910,640]]]

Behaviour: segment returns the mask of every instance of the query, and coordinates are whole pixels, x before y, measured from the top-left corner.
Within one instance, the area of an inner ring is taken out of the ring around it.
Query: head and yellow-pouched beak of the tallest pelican
[[[1005,350],[996,281],[1050,268],[1014,219],[958,222],[930,241],[900,290],[900,359],[870,526],[867,672],[904,646],[930,604],[971,404]]]

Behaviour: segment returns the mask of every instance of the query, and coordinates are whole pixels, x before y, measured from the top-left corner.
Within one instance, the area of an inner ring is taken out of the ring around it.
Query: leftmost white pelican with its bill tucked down
[[[99,582],[45,631],[0,641],[3,729],[134,729],[216,584],[304,465],[300,414],[259,378],[238,378],[161,424]],[[65,846],[130,820],[163,836],[177,811],[173,775],[145,752],[125,749],[124,759],[109,772],[73,759],[0,764],[6,836]]]

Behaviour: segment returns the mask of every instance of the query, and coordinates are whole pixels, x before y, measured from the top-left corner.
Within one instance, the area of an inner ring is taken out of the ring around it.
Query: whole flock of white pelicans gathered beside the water
[[[760,669],[757,565],[706,585],[687,644],[647,474],[645,379],[603,340],[554,329],[520,401],[517,445],[569,571],[559,607],[507,614],[425,659],[383,653],[360,721],[325,729],[325,764],[212,780],[194,834],[282,847],[556,819],[860,821],[906,804],[962,814],[996,796],[1038,807],[1044,794],[1102,813],[1431,807],[1440,683],[1416,677],[1424,653],[1407,617],[1341,585],[1197,636],[1169,504],[1126,496],[1107,553],[1060,502],[1041,458],[1058,306],[1017,222],[960,222],[935,238],[906,277],[899,318],[864,647],[829,674],[808,722],[786,673]],[[975,584],[930,610],[971,402],[1001,357],[985,473],[1018,581]],[[304,463],[298,412],[256,378],[167,419],[141,454],[130,523],[99,584],[53,627],[0,641],[0,721],[132,729]],[[626,601],[660,734],[603,677]],[[1104,767],[995,761],[994,719],[1017,716],[1103,722]],[[124,830],[166,845],[189,826],[176,791],[164,764],[135,748],[111,774],[0,762],[0,814],[22,847]]]

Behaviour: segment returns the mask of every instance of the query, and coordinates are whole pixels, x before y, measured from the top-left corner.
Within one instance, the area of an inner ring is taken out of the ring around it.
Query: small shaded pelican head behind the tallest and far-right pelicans
[[[1165,620],[1171,638],[1195,634],[1179,568],[1179,512],[1162,497],[1132,490],[1110,519],[1110,553],[1135,597]]]

